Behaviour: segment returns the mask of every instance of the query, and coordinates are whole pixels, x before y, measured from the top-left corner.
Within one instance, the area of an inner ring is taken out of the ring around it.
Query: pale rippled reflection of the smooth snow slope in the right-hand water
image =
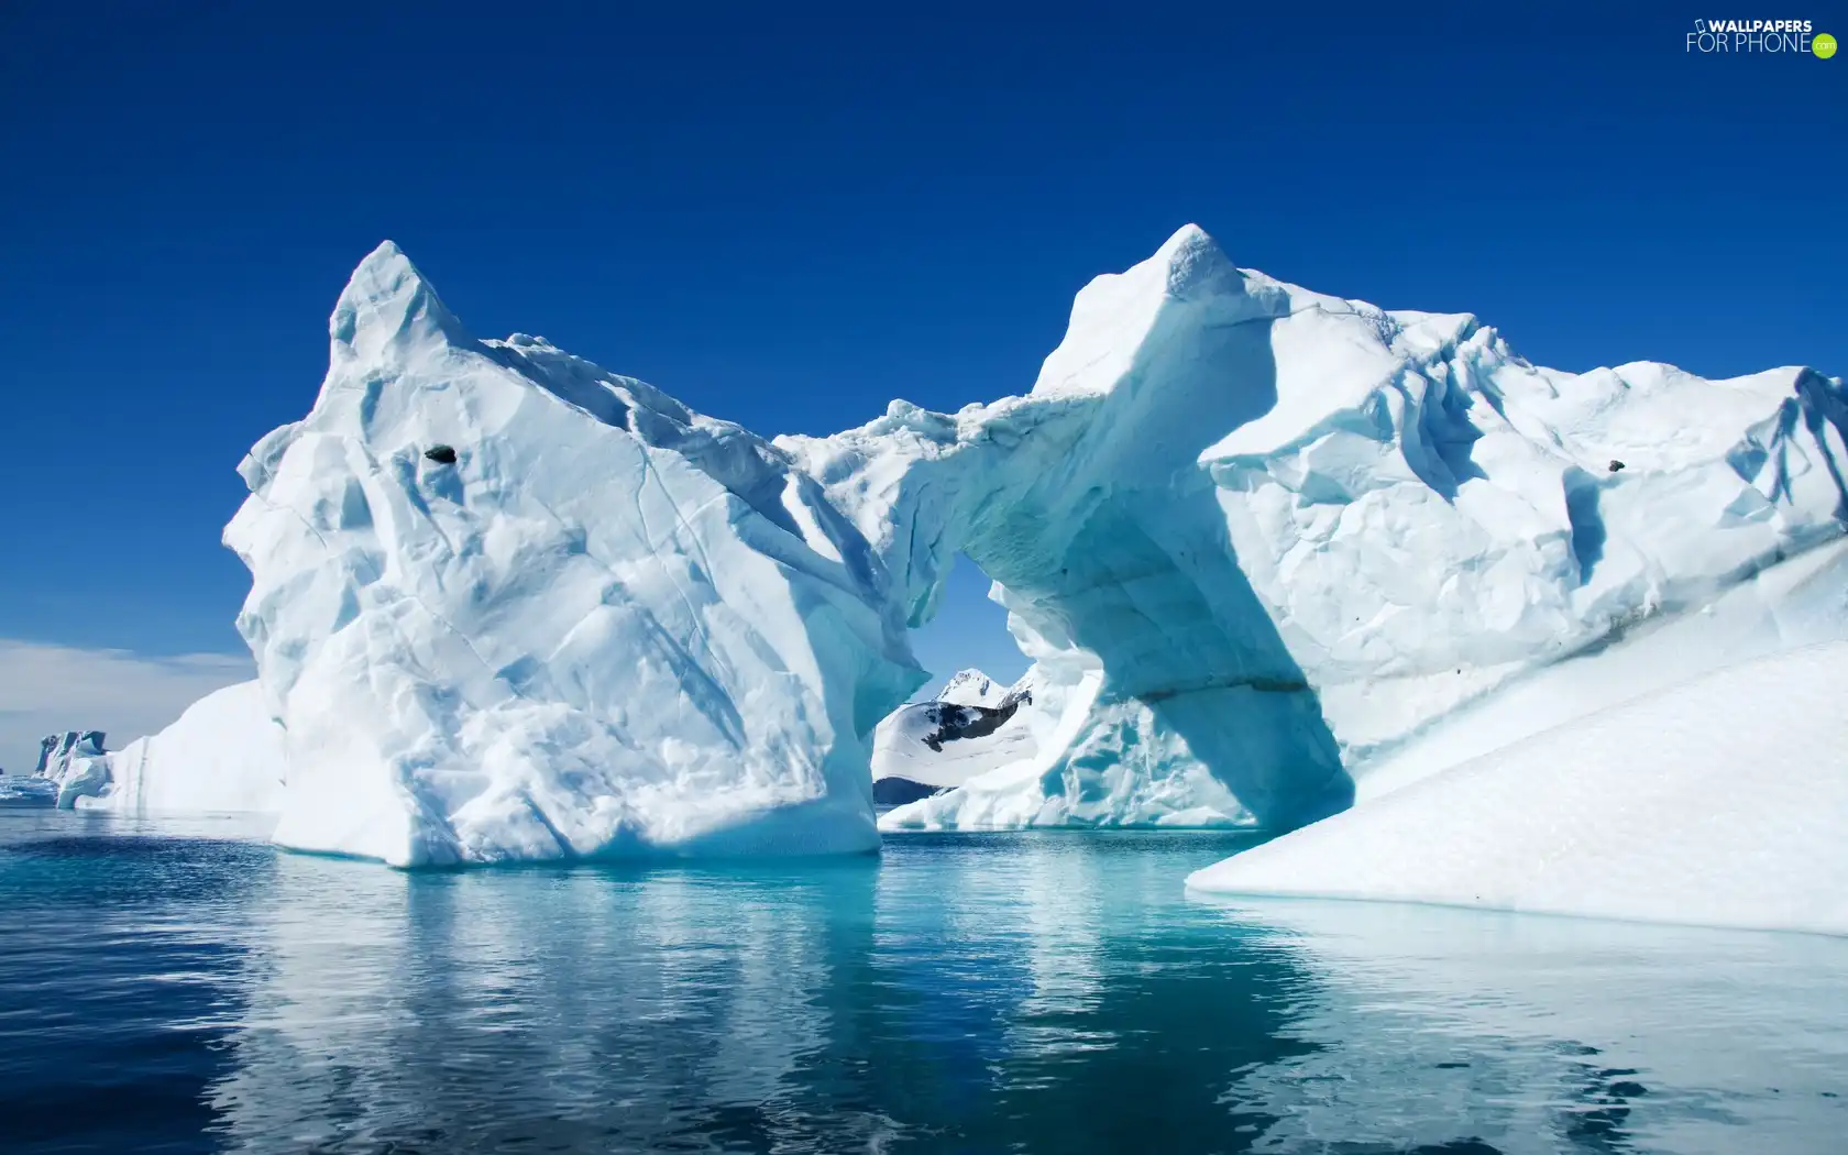
[[[1848,941],[1373,902],[1262,900],[1314,1052],[1240,1072],[1260,1151],[1835,1151]]]

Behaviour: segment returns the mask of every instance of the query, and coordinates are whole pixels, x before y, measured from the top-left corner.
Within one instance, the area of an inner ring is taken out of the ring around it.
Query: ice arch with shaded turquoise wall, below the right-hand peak
[[[1198,464],[1277,407],[1288,309],[1185,229],[1079,294],[1029,395],[778,442],[874,541],[909,623],[957,551],[1005,590],[1055,748],[1020,769],[1024,806],[965,822],[1295,824],[1351,798]]]

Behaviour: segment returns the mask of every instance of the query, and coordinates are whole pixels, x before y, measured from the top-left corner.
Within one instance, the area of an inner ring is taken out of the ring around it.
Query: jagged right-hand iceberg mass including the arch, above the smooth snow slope
[[[1458,710],[1837,540],[1844,427],[1811,370],[1545,370],[1188,227],[1077,296],[1029,395],[778,444],[909,623],[957,551],[994,578],[1052,719],[881,826],[1288,828]]]

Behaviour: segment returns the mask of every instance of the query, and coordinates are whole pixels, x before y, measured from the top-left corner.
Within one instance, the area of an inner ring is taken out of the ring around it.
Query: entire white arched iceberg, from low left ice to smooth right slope
[[[1839,649],[1776,658],[1848,638],[1841,379],[1545,370],[1473,316],[1240,270],[1196,227],[1079,292],[1026,395],[828,438],[477,340],[392,244],[331,338],[225,529],[259,680],[68,802],[235,802],[286,846],[407,867],[1301,826],[1194,885],[1700,920],[1604,902],[1578,835],[1623,804],[1624,870],[1667,885],[1748,800],[1713,846],[1770,865],[1700,874],[1700,902],[1848,931],[1822,898],[1848,894],[1848,800],[1817,785],[1848,780],[1841,711],[1772,708],[1841,675]],[[957,553],[1031,693],[902,726],[907,628]],[[1728,678],[1767,706],[1695,710]],[[1637,739],[1667,717],[1684,745]],[[876,821],[898,769],[948,789]],[[1767,808],[1798,796],[1826,837],[1785,870],[1794,817]],[[1523,889],[1510,854],[1576,867]],[[1464,894],[1477,874],[1504,885]]]

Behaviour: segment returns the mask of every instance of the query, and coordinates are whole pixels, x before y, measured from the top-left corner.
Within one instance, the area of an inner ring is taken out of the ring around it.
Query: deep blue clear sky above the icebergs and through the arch
[[[0,6],[0,639],[240,650],[233,468],[384,237],[763,434],[1027,388],[1190,220],[1560,368],[1848,371],[1848,55],[1684,44],[1841,2],[499,7]],[[1016,673],[981,588],[928,665]]]

